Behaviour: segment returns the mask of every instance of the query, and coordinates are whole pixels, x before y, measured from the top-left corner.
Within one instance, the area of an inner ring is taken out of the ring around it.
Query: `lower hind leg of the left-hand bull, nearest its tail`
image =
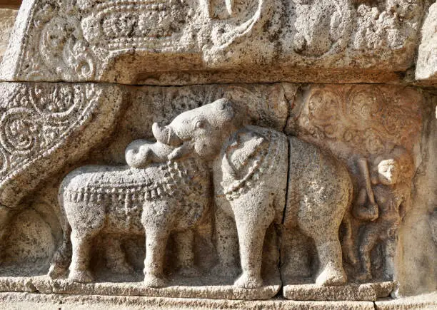
[[[74,282],[89,283],[94,280],[89,271],[90,249],[93,240],[92,234],[83,234],[73,230],[71,232],[71,257],[69,279]]]

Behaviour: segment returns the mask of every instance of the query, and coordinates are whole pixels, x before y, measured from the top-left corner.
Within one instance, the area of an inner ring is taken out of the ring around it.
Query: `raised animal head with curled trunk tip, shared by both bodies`
[[[218,99],[181,113],[169,125],[154,123],[152,131],[159,143],[174,148],[168,156],[170,160],[188,154],[209,160],[218,154],[223,140],[240,127],[241,118],[233,103]]]

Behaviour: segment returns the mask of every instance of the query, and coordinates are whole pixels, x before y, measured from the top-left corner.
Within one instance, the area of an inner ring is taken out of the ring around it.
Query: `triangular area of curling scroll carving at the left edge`
[[[82,128],[99,108],[101,88],[93,84],[46,83],[4,84],[1,88],[0,190],[2,202],[13,207],[16,202],[10,204],[9,198],[16,197],[4,192],[5,187],[11,187],[11,182],[26,175],[26,171],[34,170],[36,162],[58,152],[71,133]],[[45,172],[38,172],[39,176]],[[34,182],[39,177],[31,179]],[[9,190],[14,191],[14,186]],[[26,190],[20,191],[25,195]]]

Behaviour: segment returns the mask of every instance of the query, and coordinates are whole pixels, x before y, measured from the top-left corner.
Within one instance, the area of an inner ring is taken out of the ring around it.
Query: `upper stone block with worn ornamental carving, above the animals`
[[[336,82],[338,75],[398,81],[396,72],[413,65],[425,10],[423,1],[409,0],[28,0],[1,78],[161,85],[291,76]]]

